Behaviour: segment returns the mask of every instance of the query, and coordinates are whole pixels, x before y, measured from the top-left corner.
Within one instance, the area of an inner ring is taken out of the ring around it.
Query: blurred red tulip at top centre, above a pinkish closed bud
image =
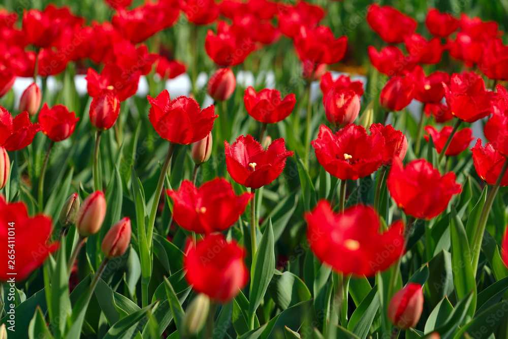
[[[328,26],[301,26],[293,42],[300,60],[312,60],[314,63],[327,65],[338,63],[347,48],[347,37],[335,39]]]

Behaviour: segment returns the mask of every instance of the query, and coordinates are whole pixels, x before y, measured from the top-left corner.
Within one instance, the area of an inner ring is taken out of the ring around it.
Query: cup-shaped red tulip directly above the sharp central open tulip
[[[296,98],[291,93],[280,100],[280,92],[276,89],[265,88],[256,93],[256,90],[249,86],[245,89],[243,102],[251,117],[265,124],[275,124],[293,112]]]

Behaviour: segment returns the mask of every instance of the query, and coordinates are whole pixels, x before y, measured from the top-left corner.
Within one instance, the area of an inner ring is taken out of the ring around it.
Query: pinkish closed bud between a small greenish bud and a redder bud
[[[96,234],[106,217],[106,198],[96,191],[90,194],[79,208],[76,227],[81,236]]]

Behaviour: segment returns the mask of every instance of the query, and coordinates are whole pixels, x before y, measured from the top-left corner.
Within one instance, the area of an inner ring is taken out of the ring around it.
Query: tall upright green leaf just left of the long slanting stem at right
[[[467,312],[467,316],[472,318],[476,309],[476,280],[471,266],[466,231],[453,206],[450,214],[450,241],[452,243],[452,272],[455,295],[457,300],[460,300],[472,292],[471,304]]]

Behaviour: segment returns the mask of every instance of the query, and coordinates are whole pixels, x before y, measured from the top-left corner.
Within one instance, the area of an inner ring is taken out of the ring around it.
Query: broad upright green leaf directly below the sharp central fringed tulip
[[[256,255],[252,259],[249,315],[254,314],[258,309],[258,306],[265,296],[268,284],[272,279],[273,271],[275,270],[274,246],[272,221],[269,219]]]

